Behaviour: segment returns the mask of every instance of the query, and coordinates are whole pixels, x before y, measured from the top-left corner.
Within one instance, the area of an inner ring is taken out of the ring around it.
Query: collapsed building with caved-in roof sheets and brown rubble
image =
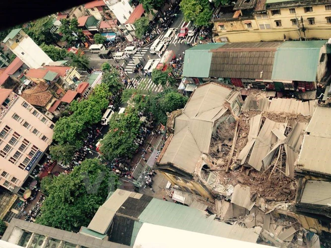
[[[174,190],[214,203],[208,210],[215,219],[262,227],[261,243],[314,246],[320,237],[328,240],[329,109],[321,114],[315,100],[272,98],[256,89],[246,90],[245,101],[238,93],[200,85],[186,107],[170,115],[156,169]],[[319,187],[325,190],[315,193]]]

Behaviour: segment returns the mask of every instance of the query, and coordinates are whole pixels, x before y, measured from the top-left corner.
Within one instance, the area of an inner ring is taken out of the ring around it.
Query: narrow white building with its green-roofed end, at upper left
[[[3,43],[30,68],[39,68],[53,62],[21,28],[11,30]]]

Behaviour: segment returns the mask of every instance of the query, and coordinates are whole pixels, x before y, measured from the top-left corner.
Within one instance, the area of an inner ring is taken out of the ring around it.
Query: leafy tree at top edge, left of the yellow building
[[[182,0],[179,4],[186,22],[193,21],[196,26],[207,26],[212,15],[208,0]]]

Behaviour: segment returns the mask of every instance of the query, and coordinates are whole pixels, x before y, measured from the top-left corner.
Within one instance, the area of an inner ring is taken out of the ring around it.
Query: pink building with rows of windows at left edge
[[[0,89],[0,186],[22,195],[52,142],[54,123],[12,90]]]

